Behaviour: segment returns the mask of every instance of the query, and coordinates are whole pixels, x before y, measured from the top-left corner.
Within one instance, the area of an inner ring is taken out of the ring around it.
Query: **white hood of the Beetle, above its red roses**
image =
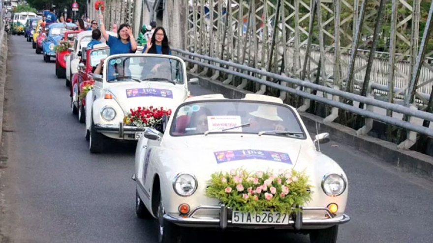
[[[154,89],[158,96],[137,94],[137,91],[143,92],[143,89]],[[126,113],[129,112],[129,109],[136,109],[137,107],[154,106],[155,108],[173,109],[187,97],[187,90],[184,85],[173,85],[172,83],[157,83],[156,85],[155,82],[118,83],[110,85],[106,90],[114,95]],[[135,97],[132,96],[134,92]]]

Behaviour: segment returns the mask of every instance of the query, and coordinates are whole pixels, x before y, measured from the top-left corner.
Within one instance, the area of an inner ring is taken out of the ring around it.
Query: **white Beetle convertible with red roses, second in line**
[[[93,75],[93,89],[86,95],[86,139],[92,153],[100,153],[107,138],[138,140],[145,128],[124,123],[131,110],[168,110],[189,96],[185,62],[179,57],[116,54],[103,65],[103,75]]]

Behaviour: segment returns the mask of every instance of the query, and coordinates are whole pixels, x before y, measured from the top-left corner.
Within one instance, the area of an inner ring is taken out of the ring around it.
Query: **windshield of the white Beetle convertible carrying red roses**
[[[108,60],[107,82],[155,81],[184,83],[184,66],[175,59],[150,56],[121,56]]]

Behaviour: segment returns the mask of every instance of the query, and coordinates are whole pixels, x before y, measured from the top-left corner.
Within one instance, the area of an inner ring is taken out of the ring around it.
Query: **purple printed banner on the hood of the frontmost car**
[[[214,152],[217,163],[241,161],[241,160],[265,160],[292,164],[286,153],[266,150],[227,150]]]

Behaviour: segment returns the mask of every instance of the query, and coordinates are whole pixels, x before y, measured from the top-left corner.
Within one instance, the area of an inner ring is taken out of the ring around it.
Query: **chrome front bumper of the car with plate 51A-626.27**
[[[194,216],[197,212],[201,210],[216,210],[219,211],[219,216],[217,217],[196,217]],[[165,214],[164,219],[173,222],[178,225],[207,225],[210,227],[219,227],[220,229],[225,229],[227,227],[275,227],[282,229],[294,229],[301,230],[304,227],[309,226],[334,226],[343,223],[347,223],[350,220],[348,215],[343,214],[342,216],[333,215],[329,209],[322,207],[305,207],[302,208],[303,211],[323,211],[328,218],[324,219],[311,219],[303,218],[302,213],[293,214],[292,218],[289,220],[288,225],[272,225],[272,224],[232,224],[231,215],[232,210],[223,206],[200,206],[192,210],[188,215],[169,215]]]

